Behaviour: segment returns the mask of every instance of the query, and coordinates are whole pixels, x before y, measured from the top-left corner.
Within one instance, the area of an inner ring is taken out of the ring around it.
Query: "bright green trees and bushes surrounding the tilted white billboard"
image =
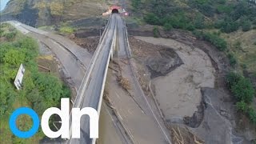
[[[53,74],[38,71],[38,43],[17,31],[13,35],[10,28],[14,30],[10,25],[1,25],[1,39],[6,39],[0,44],[0,128],[1,135],[5,138],[2,143],[38,143],[44,136],[41,130],[29,139],[12,137],[8,125],[10,114],[18,107],[26,106],[33,108],[41,116],[47,108],[58,106],[60,98],[69,97],[70,90]],[[13,83],[21,63],[26,71],[22,90],[16,90]],[[18,118],[18,123],[20,130],[28,130],[32,121],[24,116]]]

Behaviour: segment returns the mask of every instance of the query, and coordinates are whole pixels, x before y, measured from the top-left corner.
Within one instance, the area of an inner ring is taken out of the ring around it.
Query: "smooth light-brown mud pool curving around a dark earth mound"
[[[202,100],[201,87],[214,88],[214,67],[208,55],[180,42],[165,38],[135,37],[154,45],[170,47],[181,58],[175,70],[152,79],[159,106],[169,122],[192,117]],[[171,62],[171,61],[170,61]]]

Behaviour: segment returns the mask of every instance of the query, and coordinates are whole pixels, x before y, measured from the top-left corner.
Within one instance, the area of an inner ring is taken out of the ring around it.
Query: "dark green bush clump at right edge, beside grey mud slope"
[[[256,124],[256,111],[251,106],[255,90],[250,79],[244,78],[241,74],[230,72],[226,76],[226,84],[238,101],[236,102],[237,109],[248,115],[250,121]]]

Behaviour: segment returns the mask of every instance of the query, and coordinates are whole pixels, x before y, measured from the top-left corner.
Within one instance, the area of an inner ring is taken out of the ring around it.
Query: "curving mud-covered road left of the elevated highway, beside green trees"
[[[65,76],[69,78],[70,84],[76,88],[81,85],[86,68],[89,66],[90,59],[92,58],[92,55],[86,49],[76,45],[67,38],[26,26],[21,22],[10,21],[9,23],[23,34],[30,35],[32,38],[38,39],[39,42],[48,46],[59,62],[61,62]]]

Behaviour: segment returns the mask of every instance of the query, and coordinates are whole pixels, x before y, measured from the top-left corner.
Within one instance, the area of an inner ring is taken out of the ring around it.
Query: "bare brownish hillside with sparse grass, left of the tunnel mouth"
[[[102,14],[110,5],[101,0],[10,0],[2,19],[14,18],[30,26],[54,25]]]

